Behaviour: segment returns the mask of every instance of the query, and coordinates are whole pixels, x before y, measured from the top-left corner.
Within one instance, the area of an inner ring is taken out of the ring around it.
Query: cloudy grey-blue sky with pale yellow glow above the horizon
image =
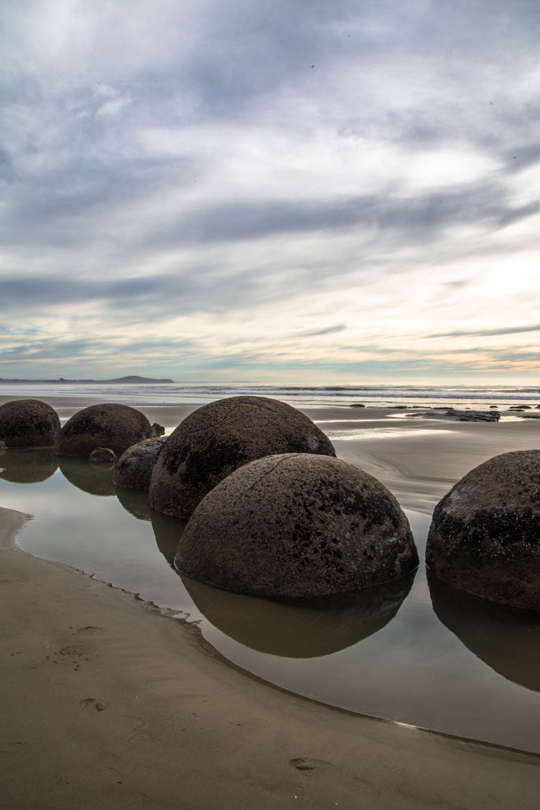
[[[0,377],[539,382],[538,0],[14,0],[0,36]]]

